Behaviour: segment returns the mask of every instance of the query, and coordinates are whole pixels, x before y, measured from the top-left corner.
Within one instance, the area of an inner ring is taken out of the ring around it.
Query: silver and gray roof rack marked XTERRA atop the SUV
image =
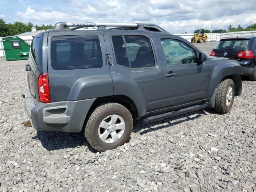
[[[109,28],[110,30],[129,30],[129,29],[141,29],[141,30],[149,30],[149,31],[158,31],[158,32],[167,32],[163,28],[155,24],[142,24],[142,23],[94,23],[94,22],[59,22],[56,23],[53,30],[65,29],[65,27],[73,27],[70,30],[76,30],[84,27],[98,27],[98,29],[106,29],[106,27],[114,27]]]

